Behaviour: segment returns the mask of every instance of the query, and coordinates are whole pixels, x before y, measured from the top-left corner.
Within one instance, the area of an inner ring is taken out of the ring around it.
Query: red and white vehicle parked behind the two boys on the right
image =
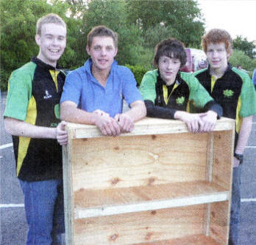
[[[201,70],[207,67],[207,56],[204,51],[196,48],[185,48],[187,53],[187,62],[182,71],[193,73],[196,70]]]

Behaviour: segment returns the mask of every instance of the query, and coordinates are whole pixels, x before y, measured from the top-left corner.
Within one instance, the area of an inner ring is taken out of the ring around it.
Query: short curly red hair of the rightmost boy
[[[228,54],[232,52],[232,37],[223,29],[211,29],[205,36],[202,37],[202,48],[207,52],[207,45],[209,43],[224,43]]]

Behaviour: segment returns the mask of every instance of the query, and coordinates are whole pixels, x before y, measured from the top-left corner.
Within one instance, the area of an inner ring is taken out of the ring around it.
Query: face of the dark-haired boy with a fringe
[[[167,85],[173,84],[177,73],[179,71],[181,62],[176,58],[169,58],[168,56],[160,56],[158,62],[158,69],[163,81],[166,81]]]

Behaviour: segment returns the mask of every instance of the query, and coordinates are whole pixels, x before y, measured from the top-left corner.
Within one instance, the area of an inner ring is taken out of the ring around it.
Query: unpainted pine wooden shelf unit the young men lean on
[[[66,130],[66,244],[227,244],[233,120],[209,134],[153,118],[117,137],[93,125]]]

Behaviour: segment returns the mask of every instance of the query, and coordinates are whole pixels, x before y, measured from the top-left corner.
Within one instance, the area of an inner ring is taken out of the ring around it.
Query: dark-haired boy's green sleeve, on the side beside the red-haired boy
[[[192,74],[182,73],[182,78],[187,82],[190,90],[189,100],[196,107],[203,108],[210,100],[213,100],[202,84]]]

